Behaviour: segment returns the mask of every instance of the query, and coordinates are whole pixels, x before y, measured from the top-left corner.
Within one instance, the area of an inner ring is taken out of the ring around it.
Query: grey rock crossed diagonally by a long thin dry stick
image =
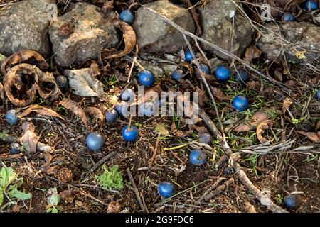
[[[154,1],[145,6],[166,16],[187,31],[195,32],[193,18],[187,9],[171,4],[168,0]],[[179,31],[142,7],[137,11],[133,28],[142,51],[176,52],[186,43]]]

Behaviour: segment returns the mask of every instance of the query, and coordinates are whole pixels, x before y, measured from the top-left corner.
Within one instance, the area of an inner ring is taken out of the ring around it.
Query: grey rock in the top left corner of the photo
[[[0,9],[0,52],[12,55],[18,50],[50,53],[48,5],[55,0],[24,0]]]

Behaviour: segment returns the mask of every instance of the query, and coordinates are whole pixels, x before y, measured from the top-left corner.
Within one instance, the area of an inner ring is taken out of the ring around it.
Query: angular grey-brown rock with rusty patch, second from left
[[[111,22],[113,16],[113,12],[104,16],[100,8],[91,4],[73,4],[49,28],[55,62],[69,66],[76,61],[97,59],[104,48],[115,48],[119,37]]]

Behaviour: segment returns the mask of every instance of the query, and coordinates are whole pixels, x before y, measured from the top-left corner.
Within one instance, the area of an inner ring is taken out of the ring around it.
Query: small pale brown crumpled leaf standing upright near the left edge
[[[34,133],[33,123],[23,122],[22,130],[23,135],[20,138],[20,143],[23,145],[24,150],[28,153],[36,152],[39,137]]]

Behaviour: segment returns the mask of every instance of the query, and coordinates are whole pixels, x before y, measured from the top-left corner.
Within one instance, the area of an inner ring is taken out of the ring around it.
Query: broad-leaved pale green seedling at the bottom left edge
[[[0,172],[0,205],[4,202],[4,196],[9,200],[9,204],[17,204],[13,199],[26,200],[31,198],[30,193],[20,192],[19,187],[23,184],[23,177],[18,178],[18,174],[11,167],[2,167]],[[6,206],[5,205],[5,206]]]

